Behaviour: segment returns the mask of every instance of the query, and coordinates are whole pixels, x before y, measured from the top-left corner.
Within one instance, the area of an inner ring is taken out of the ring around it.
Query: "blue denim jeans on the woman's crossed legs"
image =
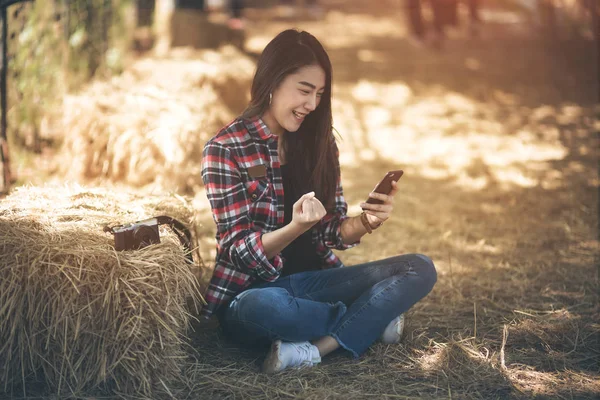
[[[433,262],[407,254],[260,283],[219,312],[225,334],[248,345],[334,337],[354,357],[433,288]]]

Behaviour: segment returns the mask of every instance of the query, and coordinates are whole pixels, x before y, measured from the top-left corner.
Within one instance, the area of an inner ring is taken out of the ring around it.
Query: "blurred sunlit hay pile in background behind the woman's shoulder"
[[[64,177],[199,190],[203,145],[247,103],[253,72],[233,46],[180,49],[68,95],[58,157]]]

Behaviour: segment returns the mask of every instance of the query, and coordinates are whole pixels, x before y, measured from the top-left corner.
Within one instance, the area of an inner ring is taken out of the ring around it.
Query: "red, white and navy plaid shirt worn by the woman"
[[[210,317],[222,304],[256,281],[272,282],[283,268],[280,255],[267,259],[263,233],[284,224],[283,181],[277,155],[278,137],[260,118],[236,119],[204,146],[202,180],[217,224],[215,269],[202,315]],[[265,176],[257,176],[264,166]],[[262,167],[259,167],[260,170]],[[338,164],[339,169],[339,164]],[[335,211],[312,228],[312,239],[323,268],[342,267],[331,251],[345,250],[340,229],[348,206],[338,181]]]

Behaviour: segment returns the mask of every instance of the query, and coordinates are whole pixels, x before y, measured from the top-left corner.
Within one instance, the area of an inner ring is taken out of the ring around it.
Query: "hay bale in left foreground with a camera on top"
[[[172,390],[201,301],[194,271],[164,226],[128,252],[102,230],[161,214],[191,223],[174,196],[20,187],[0,202],[0,393],[40,377],[59,397]]]

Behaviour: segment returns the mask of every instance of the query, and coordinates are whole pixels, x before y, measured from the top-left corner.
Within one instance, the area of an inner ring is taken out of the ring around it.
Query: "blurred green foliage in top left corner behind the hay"
[[[9,141],[39,150],[58,139],[62,99],[93,77],[120,73],[130,0],[36,0],[9,8]]]

